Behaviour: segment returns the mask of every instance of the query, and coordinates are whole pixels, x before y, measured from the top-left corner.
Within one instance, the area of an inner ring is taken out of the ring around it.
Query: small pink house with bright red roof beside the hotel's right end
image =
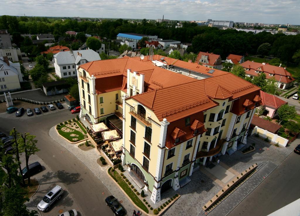
[[[264,91],[261,90],[260,90],[260,97],[262,99],[263,109],[267,110],[268,112],[266,113],[266,115],[272,119],[278,115],[277,110],[279,109],[279,107],[281,107],[283,104],[287,104],[286,101],[283,101],[280,98],[265,93]]]

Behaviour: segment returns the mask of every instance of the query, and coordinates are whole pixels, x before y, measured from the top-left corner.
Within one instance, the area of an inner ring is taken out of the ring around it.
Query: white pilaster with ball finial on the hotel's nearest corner
[[[164,163],[164,154],[165,154],[165,144],[166,144],[166,135],[167,135],[167,128],[170,122],[167,122],[167,119],[163,119],[161,123],[161,132],[159,135],[159,143],[158,143],[158,156],[156,161],[156,172],[155,172],[155,178],[157,181],[161,178],[161,173],[163,171],[163,163]]]

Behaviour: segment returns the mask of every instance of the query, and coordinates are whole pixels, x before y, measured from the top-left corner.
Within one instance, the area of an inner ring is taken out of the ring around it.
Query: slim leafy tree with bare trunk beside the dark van
[[[36,146],[38,140],[35,140],[34,135],[30,135],[29,133],[20,134],[21,138],[18,140],[19,145],[22,149],[22,152],[25,153],[25,161],[26,161],[26,168],[27,168],[27,177],[28,177],[28,184],[30,185],[30,170],[29,170],[29,158],[31,155],[34,155],[36,152],[40,151]]]

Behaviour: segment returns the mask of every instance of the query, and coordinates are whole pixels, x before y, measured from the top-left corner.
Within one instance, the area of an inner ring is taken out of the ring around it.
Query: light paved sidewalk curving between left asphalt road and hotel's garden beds
[[[78,144],[71,144],[60,137],[55,131],[55,126],[50,129],[49,136],[69,152],[71,152],[89,170],[91,170],[91,172],[104,184],[107,190],[109,190],[110,193],[112,193],[117,199],[122,201],[122,205],[128,212],[128,215],[130,215],[134,210],[137,210],[134,205],[132,205],[131,201],[124,195],[124,193],[119,190],[119,187],[116,186],[115,182],[112,182],[112,180],[107,176],[107,169],[109,166],[107,165],[101,167],[97,164],[97,159],[100,158],[100,156],[96,153],[95,149],[82,151],[77,147]]]

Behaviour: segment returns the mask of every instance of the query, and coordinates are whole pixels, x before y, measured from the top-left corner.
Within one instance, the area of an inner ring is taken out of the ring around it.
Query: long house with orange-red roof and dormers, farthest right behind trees
[[[277,67],[265,62],[258,63],[254,61],[245,61],[241,64],[245,68],[246,76],[253,78],[265,73],[266,79],[274,77],[278,81],[278,88],[286,89],[293,85],[294,78],[285,69],[285,67]]]

